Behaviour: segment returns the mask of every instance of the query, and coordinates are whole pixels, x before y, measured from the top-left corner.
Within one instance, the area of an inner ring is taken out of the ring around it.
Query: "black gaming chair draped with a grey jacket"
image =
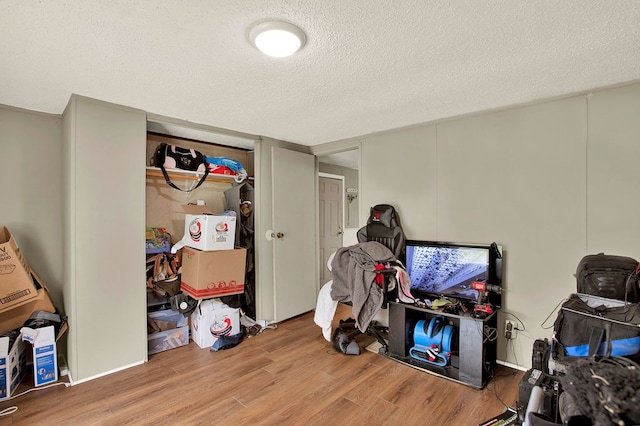
[[[356,236],[359,243],[376,241],[386,246],[391,250],[395,258],[404,265],[405,236],[393,206],[389,204],[378,204],[371,207],[367,224],[358,230]],[[382,291],[384,299],[382,309],[387,309],[389,300],[397,299],[399,284],[396,284],[395,288],[389,291],[389,281],[395,276],[396,270],[393,268],[384,268],[380,269],[378,273],[383,277]],[[349,343],[353,336],[359,333],[355,325],[355,320],[352,318],[341,320],[340,328],[346,334],[346,340],[343,338],[343,344],[345,342]],[[381,354],[387,352],[388,344],[384,338],[384,334],[388,333],[388,331],[388,327],[377,324],[374,321],[367,327],[366,333],[375,337],[378,343],[380,343],[381,347],[378,351]],[[334,340],[334,347],[336,346],[339,345]]]

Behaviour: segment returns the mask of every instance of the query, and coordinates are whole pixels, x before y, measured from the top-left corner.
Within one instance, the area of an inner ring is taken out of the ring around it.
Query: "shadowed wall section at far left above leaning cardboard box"
[[[0,226],[62,306],[62,120],[0,106]]]

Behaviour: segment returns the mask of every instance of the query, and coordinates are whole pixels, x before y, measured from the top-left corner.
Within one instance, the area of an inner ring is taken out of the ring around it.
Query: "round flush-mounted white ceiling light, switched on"
[[[304,46],[304,32],[287,22],[263,22],[251,29],[251,43],[265,55],[275,58],[291,56]]]

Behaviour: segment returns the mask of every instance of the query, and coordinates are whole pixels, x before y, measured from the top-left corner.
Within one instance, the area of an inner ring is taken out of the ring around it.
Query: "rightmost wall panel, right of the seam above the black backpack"
[[[640,260],[640,84],[596,92],[588,106],[588,252]]]

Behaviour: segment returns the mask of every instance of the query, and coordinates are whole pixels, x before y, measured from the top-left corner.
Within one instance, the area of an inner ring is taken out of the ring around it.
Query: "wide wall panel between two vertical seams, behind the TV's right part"
[[[501,360],[528,366],[533,341],[551,337],[541,324],[575,288],[585,161],[584,97],[438,125],[438,239],[503,245],[501,317],[526,328],[516,350],[499,345]]]

